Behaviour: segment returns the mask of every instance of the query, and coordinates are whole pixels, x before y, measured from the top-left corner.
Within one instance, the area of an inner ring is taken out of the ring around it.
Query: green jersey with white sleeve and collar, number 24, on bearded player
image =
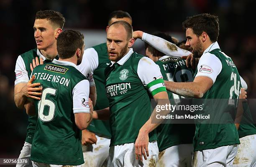
[[[203,109],[197,112],[202,115],[209,114],[210,119],[196,120],[194,150],[240,144],[233,122],[240,91],[240,77],[235,64],[220,50],[218,42],[212,43],[204,51],[195,72],[195,77],[197,76],[209,77],[213,85],[202,97]]]

